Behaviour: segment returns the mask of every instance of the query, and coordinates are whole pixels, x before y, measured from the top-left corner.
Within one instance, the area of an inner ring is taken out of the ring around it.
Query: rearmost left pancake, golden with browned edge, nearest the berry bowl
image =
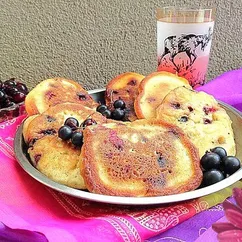
[[[90,108],[98,105],[79,83],[57,77],[44,80],[32,89],[25,99],[25,108],[30,116],[64,102],[79,103]]]

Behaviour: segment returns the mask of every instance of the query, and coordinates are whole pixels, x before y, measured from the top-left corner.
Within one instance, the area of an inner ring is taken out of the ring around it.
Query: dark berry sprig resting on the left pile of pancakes
[[[82,130],[93,124],[97,124],[97,122],[92,118],[86,119],[80,126],[77,119],[67,118],[64,125],[58,130],[58,137],[65,141],[71,140],[73,145],[80,147],[83,144]]]

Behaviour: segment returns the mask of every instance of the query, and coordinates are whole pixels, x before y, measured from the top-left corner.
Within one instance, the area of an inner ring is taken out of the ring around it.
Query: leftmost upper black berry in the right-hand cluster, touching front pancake
[[[207,152],[201,158],[201,166],[205,171],[210,169],[219,169],[221,164],[221,158],[218,154],[214,152]]]

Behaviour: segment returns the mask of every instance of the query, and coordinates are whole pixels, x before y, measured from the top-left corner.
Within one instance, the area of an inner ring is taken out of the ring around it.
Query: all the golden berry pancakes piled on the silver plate
[[[158,196],[191,191],[202,181],[200,158],[224,147],[235,155],[231,120],[217,101],[167,72],[123,73],[105,92],[107,106],[122,99],[125,122],[106,119],[72,80],[42,81],[26,97],[23,136],[32,164],[50,179],[113,196]],[[83,130],[83,146],[58,137],[69,117],[96,125]]]

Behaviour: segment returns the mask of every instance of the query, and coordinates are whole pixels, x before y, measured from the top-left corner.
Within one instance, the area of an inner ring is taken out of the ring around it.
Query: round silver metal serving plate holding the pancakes
[[[104,102],[104,89],[96,89],[89,91],[89,93],[93,96],[93,98],[97,102]],[[237,157],[242,160],[242,114],[234,109],[233,107],[220,102],[221,106],[224,107],[230,116],[233,124],[233,130],[235,133],[235,143],[237,149]],[[32,166],[28,154],[27,147],[23,140],[22,136],[23,125],[21,125],[16,133],[14,140],[14,150],[16,158],[21,165],[21,167],[34,179],[39,181],[40,183],[57,190],[59,192],[63,192],[65,194],[78,197],[81,199],[87,199],[95,202],[103,202],[103,203],[112,203],[112,204],[125,204],[125,205],[151,205],[151,204],[165,204],[165,203],[173,203],[180,202],[185,200],[190,200],[193,198],[202,197],[214,192],[217,192],[223,188],[226,188],[236,181],[242,179],[242,168],[240,168],[237,172],[235,172],[230,177],[224,179],[221,182],[218,182],[209,187],[197,189],[195,191],[168,195],[168,196],[156,196],[156,197],[118,197],[118,196],[107,196],[90,193],[88,191],[74,189],[57,182],[50,180],[48,177],[40,173],[34,166]]]

